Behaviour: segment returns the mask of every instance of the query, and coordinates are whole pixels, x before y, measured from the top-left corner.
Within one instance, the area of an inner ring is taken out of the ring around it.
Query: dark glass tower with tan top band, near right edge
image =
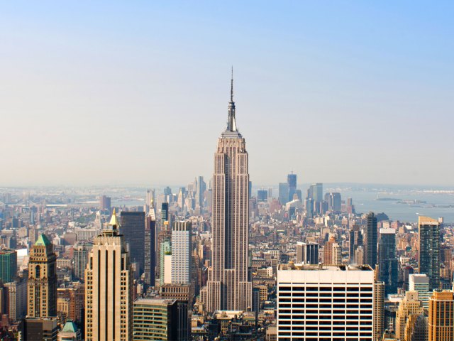
[[[440,222],[421,217],[419,224],[419,274],[428,276],[429,289],[440,288]]]

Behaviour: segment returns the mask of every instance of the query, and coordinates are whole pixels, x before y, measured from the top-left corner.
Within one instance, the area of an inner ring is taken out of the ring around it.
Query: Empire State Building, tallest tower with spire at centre
[[[211,268],[201,291],[207,311],[247,310],[252,304],[248,225],[248,152],[236,127],[232,77],[227,127],[214,154]]]

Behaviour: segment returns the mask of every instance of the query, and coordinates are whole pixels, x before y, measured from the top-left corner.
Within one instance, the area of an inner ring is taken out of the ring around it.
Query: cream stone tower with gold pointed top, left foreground
[[[94,238],[85,271],[85,340],[133,340],[133,278],[126,242],[111,221]]]

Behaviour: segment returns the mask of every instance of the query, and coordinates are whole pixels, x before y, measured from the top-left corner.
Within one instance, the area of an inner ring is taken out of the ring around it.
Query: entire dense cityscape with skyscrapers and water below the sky
[[[453,189],[255,185],[226,116],[185,186],[0,188],[1,340],[454,340]]]

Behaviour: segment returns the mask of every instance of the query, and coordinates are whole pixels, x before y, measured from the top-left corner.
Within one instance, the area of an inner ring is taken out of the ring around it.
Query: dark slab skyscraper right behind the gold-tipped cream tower
[[[140,276],[145,264],[145,212],[121,211],[120,224],[120,234],[128,244],[129,259],[138,266]]]

